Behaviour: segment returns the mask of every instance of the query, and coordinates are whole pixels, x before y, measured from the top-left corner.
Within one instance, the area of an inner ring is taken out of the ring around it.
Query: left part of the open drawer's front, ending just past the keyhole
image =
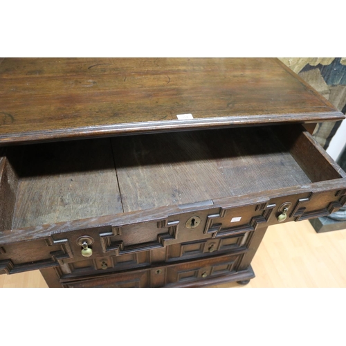
[[[0,273],[19,273],[65,264],[74,264],[74,268],[88,271],[88,268],[102,267],[104,258],[108,259],[109,267],[116,266],[119,261],[143,264],[148,261],[145,257],[136,257],[138,253],[210,238],[211,235],[203,232],[210,210],[214,212],[217,209],[211,205],[192,212],[176,210],[165,216],[160,212],[157,216],[148,217],[143,217],[143,213],[140,217],[100,217],[1,234]],[[200,220],[197,226],[187,228],[188,219],[196,215]],[[25,236],[21,237],[23,234]],[[82,255],[83,239],[92,251],[90,257]],[[122,261],[122,258],[131,260]]]

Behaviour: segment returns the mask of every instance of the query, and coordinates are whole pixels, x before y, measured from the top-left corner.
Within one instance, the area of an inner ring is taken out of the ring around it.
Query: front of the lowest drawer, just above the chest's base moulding
[[[127,273],[98,275],[80,280],[61,280],[64,287],[130,288],[170,287],[208,280],[236,273],[242,255],[223,255],[205,260],[142,269]],[[230,281],[231,281],[230,277]]]

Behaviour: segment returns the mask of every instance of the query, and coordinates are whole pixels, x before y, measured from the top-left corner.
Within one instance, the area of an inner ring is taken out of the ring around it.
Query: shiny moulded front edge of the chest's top
[[[76,127],[70,129],[48,129],[27,131],[14,134],[0,134],[0,146],[58,140],[78,140],[86,138],[102,138],[107,136],[125,136],[132,134],[149,134],[169,131],[188,131],[198,129],[216,129],[221,127],[246,127],[258,125],[282,125],[290,123],[309,123],[342,120],[341,112],[301,113],[277,116],[202,118],[190,120],[161,120],[133,122],[127,124],[98,125],[93,127]]]

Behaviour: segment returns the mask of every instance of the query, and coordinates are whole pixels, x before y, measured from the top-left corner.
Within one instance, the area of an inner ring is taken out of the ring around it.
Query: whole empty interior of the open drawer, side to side
[[[345,176],[300,125],[41,143],[2,155],[3,230]]]

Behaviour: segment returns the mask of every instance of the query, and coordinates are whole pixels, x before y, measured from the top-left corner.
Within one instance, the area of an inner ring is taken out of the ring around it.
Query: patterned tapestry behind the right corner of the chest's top
[[[316,89],[331,104],[346,113],[346,57],[280,57],[286,66]],[[313,136],[325,149],[341,120],[321,122]],[[346,134],[345,134],[346,136]]]

